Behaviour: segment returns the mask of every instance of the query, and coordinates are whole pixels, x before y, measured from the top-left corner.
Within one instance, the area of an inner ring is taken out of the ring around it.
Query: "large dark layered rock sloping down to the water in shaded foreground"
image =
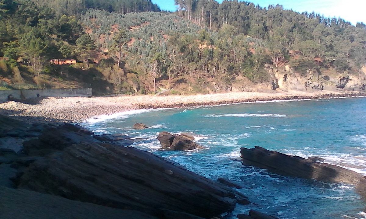
[[[233,210],[242,197],[168,159],[66,127],[44,130],[24,145],[30,153],[49,153],[15,180],[18,188],[151,215],[167,209],[203,218]]]

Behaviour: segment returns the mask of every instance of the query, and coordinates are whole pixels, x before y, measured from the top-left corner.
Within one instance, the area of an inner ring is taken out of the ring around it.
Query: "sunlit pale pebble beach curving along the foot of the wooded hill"
[[[64,97],[8,101],[0,104],[0,114],[25,122],[81,123],[97,118],[138,109],[190,108],[208,105],[236,104],[272,100],[327,99],[366,96],[366,92],[231,92],[190,96],[116,96],[116,97]]]

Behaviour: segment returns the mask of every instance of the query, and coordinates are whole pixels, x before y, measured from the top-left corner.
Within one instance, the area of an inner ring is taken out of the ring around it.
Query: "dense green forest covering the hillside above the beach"
[[[102,93],[204,93],[271,84],[269,68],[288,65],[299,77],[311,72],[329,80],[366,65],[363,23],[281,5],[175,2],[172,13],[150,0],[0,0],[0,56],[9,58],[0,61],[0,79],[97,84]],[[79,63],[50,65],[54,58]]]

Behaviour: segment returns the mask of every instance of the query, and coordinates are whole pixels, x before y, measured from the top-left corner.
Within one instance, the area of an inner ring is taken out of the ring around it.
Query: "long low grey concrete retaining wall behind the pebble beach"
[[[8,90],[0,91],[0,103],[8,100],[12,95],[16,99],[29,99],[34,97],[87,97],[91,96],[91,88],[75,89],[44,89],[44,90]]]

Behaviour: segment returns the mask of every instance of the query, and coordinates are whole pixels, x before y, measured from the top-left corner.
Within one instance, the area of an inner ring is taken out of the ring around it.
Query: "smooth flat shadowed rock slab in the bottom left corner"
[[[25,189],[0,186],[0,197],[2,219],[157,219],[139,211],[83,203]]]

